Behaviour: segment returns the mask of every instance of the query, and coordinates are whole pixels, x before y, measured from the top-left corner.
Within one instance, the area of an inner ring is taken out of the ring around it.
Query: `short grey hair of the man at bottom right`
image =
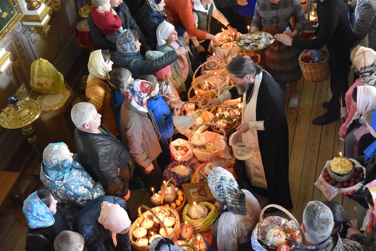
[[[333,230],[333,213],[321,201],[310,201],[303,211],[303,224],[307,234],[316,242],[324,242]]]

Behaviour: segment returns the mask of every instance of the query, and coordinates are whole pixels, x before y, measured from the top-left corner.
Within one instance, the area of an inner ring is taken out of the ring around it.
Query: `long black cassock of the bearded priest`
[[[253,84],[247,90],[246,101],[250,100]],[[236,87],[229,90],[231,98],[240,98]],[[279,84],[262,71],[257,102],[256,120],[264,120],[263,131],[258,130],[258,142],[268,186],[270,204],[286,209],[293,208],[288,181],[288,126],[285,116],[285,95]]]

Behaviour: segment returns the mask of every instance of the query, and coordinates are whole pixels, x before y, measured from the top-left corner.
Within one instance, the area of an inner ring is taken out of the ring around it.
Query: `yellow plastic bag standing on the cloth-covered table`
[[[64,92],[64,77],[49,61],[39,58],[31,64],[30,87],[40,93]]]

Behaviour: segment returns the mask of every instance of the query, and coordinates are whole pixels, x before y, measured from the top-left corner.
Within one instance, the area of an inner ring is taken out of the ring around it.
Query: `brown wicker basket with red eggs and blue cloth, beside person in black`
[[[302,68],[304,78],[309,82],[319,82],[327,80],[330,77],[330,67],[329,67],[329,52],[326,49],[321,49],[320,51],[324,53],[324,61],[320,63],[305,63],[303,62],[303,54],[309,50],[304,50],[299,55],[299,64]]]

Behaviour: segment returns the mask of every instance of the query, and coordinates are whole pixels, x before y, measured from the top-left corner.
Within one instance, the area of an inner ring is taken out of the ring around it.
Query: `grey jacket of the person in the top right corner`
[[[351,1],[356,2],[356,1]],[[350,2],[350,5],[352,3]],[[360,0],[355,10],[353,32],[357,40],[362,40],[368,34],[368,46],[376,50],[376,0]]]

